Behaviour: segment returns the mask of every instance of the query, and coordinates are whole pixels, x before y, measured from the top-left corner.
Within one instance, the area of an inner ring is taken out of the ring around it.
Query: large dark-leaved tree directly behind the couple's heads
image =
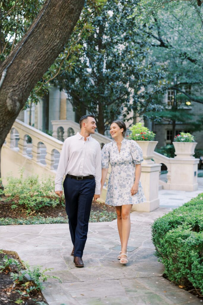
[[[161,88],[162,66],[154,69],[153,60],[146,61],[148,34],[139,28],[139,18],[132,16],[139,3],[107,0],[92,22],[91,33],[80,40],[74,69],[54,79],[79,116],[86,110],[96,116],[101,134],[120,116],[130,119],[135,112],[142,114]]]

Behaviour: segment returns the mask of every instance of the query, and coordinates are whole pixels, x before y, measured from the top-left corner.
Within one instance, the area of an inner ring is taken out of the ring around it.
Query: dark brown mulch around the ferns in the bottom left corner
[[[4,256],[4,253],[0,253],[0,265]],[[14,258],[15,260],[18,260],[15,255],[7,254],[7,256],[8,258]],[[18,262],[21,264],[19,260]],[[24,267],[22,266],[22,270],[23,269]],[[34,291],[33,294],[29,294],[29,296],[20,295],[16,290],[23,292],[25,291],[25,287],[21,284],[15,285],[15,282],[13,282],[10,278],[10,272],[18,272],[16,265],[10,265],[6,271],[0,273],[0,304],[36,305],[37,302],[44,302],[44,304],[47,304],[44,296],[40,291]],[[27,287],[29,288],[29,285]]]

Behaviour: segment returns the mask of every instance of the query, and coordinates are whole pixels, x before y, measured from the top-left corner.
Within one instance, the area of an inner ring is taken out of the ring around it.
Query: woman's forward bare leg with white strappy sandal
[[[121,218],[122,218],[122,245],[121,251],[122,253],[127,253],[128,239],[130,235],[130,212],[131,212],[132,204],[124,204],[121,206]],[[121,256],[122,259],[126,259],[125,255]],[[124,261],[124,260],[123,260]]]

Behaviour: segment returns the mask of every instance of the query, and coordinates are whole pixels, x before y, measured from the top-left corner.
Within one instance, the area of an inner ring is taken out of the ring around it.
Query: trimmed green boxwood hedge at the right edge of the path
[[[166,276],[203,294],[203,193],[156,219],[152,241]]]

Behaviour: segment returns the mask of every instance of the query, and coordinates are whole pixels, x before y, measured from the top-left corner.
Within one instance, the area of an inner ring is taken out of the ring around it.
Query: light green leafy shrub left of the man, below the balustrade
[[[61,202],[54,192],[54,180],[51,177],[31,175],[23,178],[23,170],[20,171],[20,178],[9,174],[6,177],[7,183],[4,191],[4,201],[12,202],[12,208],[21,207],[30,213],[39,210],[43,206],[56,206]]]

